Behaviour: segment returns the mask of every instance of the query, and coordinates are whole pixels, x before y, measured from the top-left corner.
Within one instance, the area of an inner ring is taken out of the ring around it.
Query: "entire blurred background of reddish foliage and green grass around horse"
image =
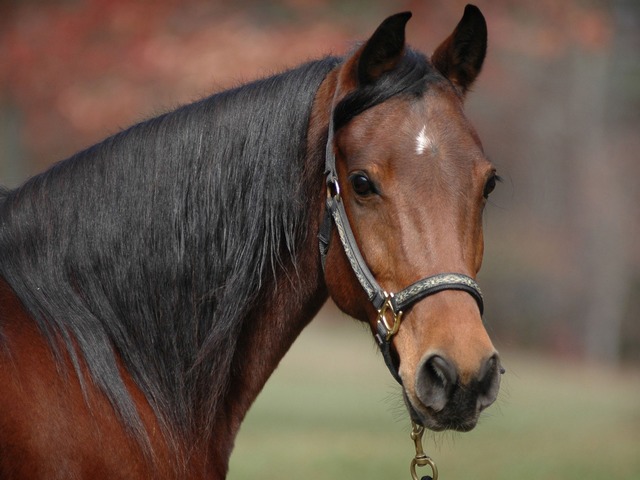
[[[0,0],[0,184],[149,118],[326,54],[411,10],[431,52],[465,1]],[[640,478],[640,1],[477,0],[468,116],[504,178],[480,284],[497,406],[431,434],[444,478]],[[397,387],[327,305],[238,438],[230,478],[409,478]],[[426,473],[426,472],[425,472]]]

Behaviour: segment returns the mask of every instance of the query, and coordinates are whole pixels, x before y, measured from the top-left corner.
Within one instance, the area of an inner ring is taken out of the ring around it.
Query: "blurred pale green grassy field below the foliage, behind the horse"
[[[476,429],[425,436],[440,479],[640,479],[640,371],[502,356],[500,397]],[[409,429],[368,332],[319,318],[250,411],[228,478],[407,480]]]

